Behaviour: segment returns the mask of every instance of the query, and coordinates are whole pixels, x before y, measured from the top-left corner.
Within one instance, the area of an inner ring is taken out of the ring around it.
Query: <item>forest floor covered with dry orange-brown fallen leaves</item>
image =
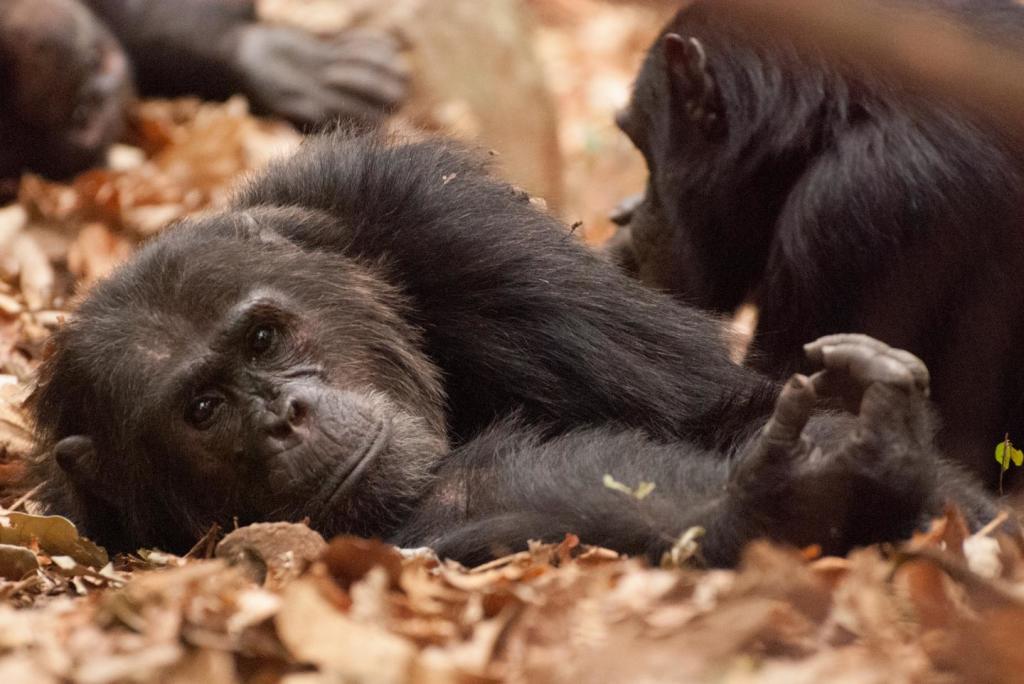
[[[643,165],[611,125],[657,17],[532,3],[564,200],[591,242]],[[74,297],[168,220],[298,144],[243,100],[150,101],[106,169],[22,179],[0,209],[0,682],[1024,681],[1024,547],[955,511],[898,547],[752,545],[736,570],[558,545],[464,568],[427,551],[255,525],[185,557],[109,559],[16,481],[22,401]],[[995,464],[993,462],[993,467]],[[623,506],[632,505],[624,496]]]

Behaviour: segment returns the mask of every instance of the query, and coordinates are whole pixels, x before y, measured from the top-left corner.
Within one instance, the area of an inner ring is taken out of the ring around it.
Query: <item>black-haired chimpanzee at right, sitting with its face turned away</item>
[[[1024,38],[1010,0],[902,2]],[[1024,438],[1024,176],[948,101],[695,2],[650,50],[620,124],[650,178],[620,261],[684,301],[759,309],[748,362],[783,378],[802,344],[866,333],[932,372],[946,454],[993,480]]]

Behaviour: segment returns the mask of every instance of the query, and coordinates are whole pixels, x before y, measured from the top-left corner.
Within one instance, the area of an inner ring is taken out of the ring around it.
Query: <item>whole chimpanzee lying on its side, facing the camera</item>
[[[308,516],[465,561],[567,531],[657,555],[702,525],[721,564],[758,536],[899,538],[946,499],[991,515],[936,456],[915,357],[825,338],[779,393],[720,334],[447,143],[310,139],[56,334],[39,498],[114,549]]]

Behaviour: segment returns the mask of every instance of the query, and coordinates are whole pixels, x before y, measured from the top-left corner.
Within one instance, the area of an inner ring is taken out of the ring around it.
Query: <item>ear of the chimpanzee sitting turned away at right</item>
[[[725,112],[703,44],[692,36],[670,33],[664,49],[673,84],[684,98],[686,116],[708,137],[720,136],[725,130]]]

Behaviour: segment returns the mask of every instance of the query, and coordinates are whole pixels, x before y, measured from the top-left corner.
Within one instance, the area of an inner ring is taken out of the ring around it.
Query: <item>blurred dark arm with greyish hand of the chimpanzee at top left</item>
[[[86,0],[114,30],[148,95],[224,99],[313,125],[374,121],[406,95],[397,44],[377,33],[319,39],[257,22],[252,0]]]

